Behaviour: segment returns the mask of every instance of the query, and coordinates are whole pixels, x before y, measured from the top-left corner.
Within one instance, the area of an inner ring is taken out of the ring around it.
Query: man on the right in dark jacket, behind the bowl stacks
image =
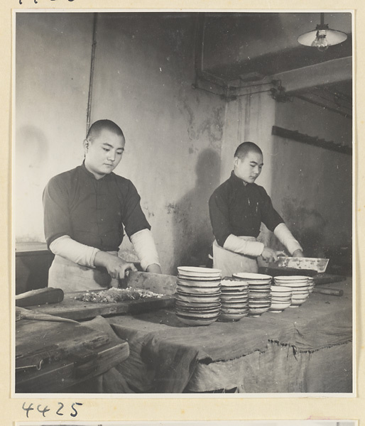
[[[303,249],[273,208],[263,187],[254,182],[261,173],[263,154],[252,142],[244,142],[234,153],[234,170],[209,199],[209,216],[215,241],[213,267],[223,276],[258,271],[257,258],[278,260],[276,251],[256,241],[261,222],[273,231],[292,256],[303,257]]]

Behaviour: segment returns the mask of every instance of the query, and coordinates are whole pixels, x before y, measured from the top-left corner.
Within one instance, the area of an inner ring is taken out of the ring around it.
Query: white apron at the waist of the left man
[[[109,253],[117,256],[116,251]],[[64,293],[102,290],[118,287],[119,280],[111,278],[107,270],[87,268],[56,255],[48,271],[48,287],[62,288]]]

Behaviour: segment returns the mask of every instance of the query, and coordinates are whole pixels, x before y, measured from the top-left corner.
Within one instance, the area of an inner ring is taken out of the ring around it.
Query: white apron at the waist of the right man
[[[256,241],[254,236],[239,236],[239,238],[246,241]],[[256,273],[258,271],[257,258],[223,249],[223,247],[217,244],[217,241],[214,241],[213,268],[220,269],[222,277],[231,277],[237,272]]]

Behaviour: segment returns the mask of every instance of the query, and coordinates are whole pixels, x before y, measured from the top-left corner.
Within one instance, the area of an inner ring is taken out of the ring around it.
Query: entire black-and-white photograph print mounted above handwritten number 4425
[[[353,20],[13,11],[13,395],[354,395]]]

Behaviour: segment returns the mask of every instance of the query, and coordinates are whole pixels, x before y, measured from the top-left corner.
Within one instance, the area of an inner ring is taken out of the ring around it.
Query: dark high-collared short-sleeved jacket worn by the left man
[[[124,237],[151,229],[133,183],[110,173],[97,180],[82,164],[55,176],[43,192],[45,239],[58,237],[118,251]]]

